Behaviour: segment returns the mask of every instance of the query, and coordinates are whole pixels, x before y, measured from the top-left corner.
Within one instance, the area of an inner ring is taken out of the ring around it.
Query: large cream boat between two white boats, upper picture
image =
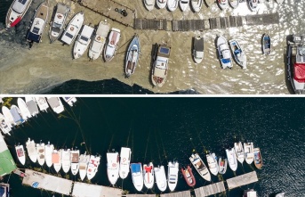
[[[100,54],[106,43],[106,39],[110,30],[109,23],[105,21],[100,21],[99,27],[95,32],[94,39],[89,49],[89,58],[96,60],[100,57]]]

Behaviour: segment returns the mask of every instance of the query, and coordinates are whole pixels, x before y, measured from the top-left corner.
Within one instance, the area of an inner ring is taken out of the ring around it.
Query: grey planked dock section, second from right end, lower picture
[[[209,196],[209,195],[213,195],[216,193],[223,193],[226,191],[226,188],[224,187],[223,181],[216,183],[216,184],[212,184],[212,185],[206,185],[206,186],[202,186],[199,187],[197,189],[195,189],[195,195],[197,197],[204,197],[204,196]]]

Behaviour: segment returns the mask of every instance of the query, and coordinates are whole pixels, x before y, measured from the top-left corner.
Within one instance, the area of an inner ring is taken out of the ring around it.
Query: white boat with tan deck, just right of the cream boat
[[[111,61],[117,50],[117,43],[121,37],[121,30],[112,28],[108,37],[107,45],[105,45],[104,50],[104,60],[105,62]]]

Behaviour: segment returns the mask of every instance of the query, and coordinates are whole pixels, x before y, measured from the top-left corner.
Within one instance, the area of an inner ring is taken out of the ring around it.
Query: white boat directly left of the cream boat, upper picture
[[[94,29],[92,27],[88,25],[84,25],[81,33],[78,35],[76,39],[76,43],[74,44],[74,49],[73,49],[74,59],[80,58],[87,50],[88,46],[91,43],[93,31]]]

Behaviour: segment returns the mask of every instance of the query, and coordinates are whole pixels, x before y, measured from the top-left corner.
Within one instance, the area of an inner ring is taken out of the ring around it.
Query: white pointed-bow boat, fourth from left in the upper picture
[[[60,40],[67,44],[71,45],[79,33],[79,30],[82,28],[84,22],[84,12],[78,12],[74,17],[69,21],[67,28],[63,32]]]

